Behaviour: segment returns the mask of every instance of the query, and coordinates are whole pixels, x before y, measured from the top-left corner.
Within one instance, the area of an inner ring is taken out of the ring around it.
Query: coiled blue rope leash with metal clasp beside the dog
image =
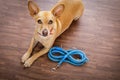
[[[56,55],[58,53],[59,55]],[[74,55],[79,55],[80,59],[74,58]],[[57,66],[53,68],[53,70],[56,70],[63,62],[70,63],[74,66],[81,66],[88,62],[88,58],[85,53],[78,49],[64,50],[60,47],[53,47],[50,49],[48,57],[50,60],[58,62]]]

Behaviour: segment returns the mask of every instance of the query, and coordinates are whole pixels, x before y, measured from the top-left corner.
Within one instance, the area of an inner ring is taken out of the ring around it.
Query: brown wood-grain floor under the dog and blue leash
[[[49,10],[58,0],[34,0]],[[20,64],[35,23],[27,0],[0,0],[0,80],[120,80],[120,0],[83,0],[83,16],[55,41],[54,46],[83,50],[89,62],[68,63],[55,72],[57,63],[40,57],[31,68]]]

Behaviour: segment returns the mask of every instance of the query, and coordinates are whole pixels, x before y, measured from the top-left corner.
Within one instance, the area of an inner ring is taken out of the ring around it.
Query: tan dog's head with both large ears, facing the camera
[[[40,11],[33,1],[28,1],[28,10],[36,22],[36,32],[42,37],[48,37],[57,30],[57,18],[64,10],[64,5],[58,5],[51,11]]]

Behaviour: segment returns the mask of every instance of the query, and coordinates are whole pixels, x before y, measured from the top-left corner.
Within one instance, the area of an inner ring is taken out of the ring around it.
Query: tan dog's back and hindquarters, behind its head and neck
[[[81,0],[60,0],[56,5],[59,4],[64,5],[64,11],[59,17],[62,26],[61,33],[63,33],[73,20],[77,20],[82,15],[84,6]]]

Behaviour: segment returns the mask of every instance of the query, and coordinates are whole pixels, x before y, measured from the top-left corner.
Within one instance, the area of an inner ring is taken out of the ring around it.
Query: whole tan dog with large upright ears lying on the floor
[[[60,0],[50,11],[41,11],[38,5],[28,0],[28,10],[36,22],[36,28],[27,52],[22,56],[24,67],[30,67],[52,47],[55,39],[78,20],[84,11],[81,0]],[[40,42],[44,48],[33,54],[34,46]]]

